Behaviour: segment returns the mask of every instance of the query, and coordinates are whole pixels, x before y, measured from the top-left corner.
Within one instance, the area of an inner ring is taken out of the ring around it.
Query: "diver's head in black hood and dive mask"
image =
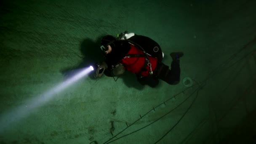
[[[115,37],[111,35],[106,35],[101,39],[101,51],[104,51],[104,53],[110,53],[112,51],[112,48],[115,48]]]

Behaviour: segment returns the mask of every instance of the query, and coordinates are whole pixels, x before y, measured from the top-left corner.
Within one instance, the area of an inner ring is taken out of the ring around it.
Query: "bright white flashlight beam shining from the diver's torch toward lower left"
[[[77,80],[87,76],[93,70],[92,66],[88,68],[83,68],[76,75],[67,79],[66,81],[60,83],[56,87],[51,88],[46,93],[43,93],[40,96],[36,96],[32,99],[29,99],[23,104],[15,107],[8,112],[2,113],[0,115],[0,134],[4,133],[8,128],[11,128],[14,124],[17,124],[23,118],[29,116],[36,108],[39,108],[45,102],[49,101],[56,94],[63,91]]]

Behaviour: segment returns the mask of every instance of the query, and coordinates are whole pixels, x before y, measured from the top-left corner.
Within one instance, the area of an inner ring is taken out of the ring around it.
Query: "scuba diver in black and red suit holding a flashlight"
[[[103,74],[109,77],[123,75],[125,71],[136,75],[141,85],[155,88],[159,79],[170,85],[180,81],[179,58],[183,53],[171,53],[171,69],[163,64],[163,52],[160,45],[149,37],[127,31],[117,37],[106,35],[101,39],[101,50],[105,60],[97,64],[94,77]]]

